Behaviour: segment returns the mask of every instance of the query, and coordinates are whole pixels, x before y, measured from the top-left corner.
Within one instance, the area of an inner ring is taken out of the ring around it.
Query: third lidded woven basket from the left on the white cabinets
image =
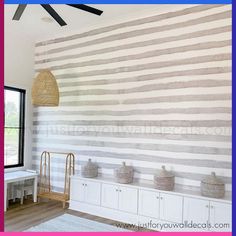
[[[162,170],[154,175],[154,185],[159,190],[172,191],[175,186],[175,176],[162,166]]]

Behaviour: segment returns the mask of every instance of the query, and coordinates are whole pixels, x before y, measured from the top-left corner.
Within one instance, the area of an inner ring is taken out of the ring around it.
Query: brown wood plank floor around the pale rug
[[[19,202],[9,204],[9,209],[5,213],[5,231],[21,232],[64,213],[109,225],[116,225],[119,223],[98,216],[72,211],[69,209],[63,209],[62,203],[60,202],[49,200],[40,203],[33,203],[31,199],[28,199],[24,201],[23,205],[20,205]],[[150,231],[140,228],[132,228],[129,230],[139,232]]]

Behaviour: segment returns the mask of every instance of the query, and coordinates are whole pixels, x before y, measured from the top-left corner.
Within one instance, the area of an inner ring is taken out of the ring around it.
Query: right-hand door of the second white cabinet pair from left
[[[119,210],[137,213],[138,211],[138,190],[129,187],[119,188]]]

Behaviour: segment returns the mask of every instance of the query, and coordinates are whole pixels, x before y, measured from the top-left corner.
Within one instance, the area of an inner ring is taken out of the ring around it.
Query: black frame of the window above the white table
[[[26,90],[4,86],[4,94],[5,90],[15,91],[20,93],[20,114],[19,114],[19,148],[18,148],[18,164],[15,165],[5,165],[4,169],[8,168],[16,168],[24,166],[24,145],[25,145],[25,96]],[[5,108],[5,99],[4,99],[4,108]],[[15,127],[5,127],[5,109],[4,109],[4,130],[5,128],[15,128]],[[4,154],[5,155],[5,154]]]

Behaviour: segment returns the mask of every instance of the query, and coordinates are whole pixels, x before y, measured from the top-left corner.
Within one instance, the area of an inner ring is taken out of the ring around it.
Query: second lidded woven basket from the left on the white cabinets
[[[131,166],[126,166],[125,162],[122,166],[114,171],[116,182],[121,184],[129,184],[133,182],[134,169]]]

